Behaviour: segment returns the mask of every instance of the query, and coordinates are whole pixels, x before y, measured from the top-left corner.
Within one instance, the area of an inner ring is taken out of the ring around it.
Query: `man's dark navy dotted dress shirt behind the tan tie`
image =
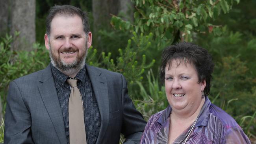
[[[51,64],[52,74],[58,93],[59,103],[63,114],[64,126],[69,144],[69,95],[70,87],[67,83],[68,76],[60,72]],[[85,121],[85,132],[87,144],[95,144],[100,131],[101,117],[91,81],[86,72],[85,66],[76,75],[78,79],[77,86],[83,99],[83,113]]]

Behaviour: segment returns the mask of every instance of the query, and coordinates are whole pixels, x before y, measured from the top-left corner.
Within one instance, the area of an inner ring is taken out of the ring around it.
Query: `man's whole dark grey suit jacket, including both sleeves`
[[[124,76],[86,65],[101,116],[96,144],[139,143],[146,122],[127,94]],[[50,65],[9,84],[5,144],[66,144],[67,138]]]

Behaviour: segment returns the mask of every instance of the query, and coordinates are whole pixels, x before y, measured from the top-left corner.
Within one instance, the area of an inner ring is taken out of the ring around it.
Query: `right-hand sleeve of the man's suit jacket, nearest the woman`
[[[146,122],[128,96],[127,82],[122,76],[122,134],[126,138],[124,144],[139,144]]]

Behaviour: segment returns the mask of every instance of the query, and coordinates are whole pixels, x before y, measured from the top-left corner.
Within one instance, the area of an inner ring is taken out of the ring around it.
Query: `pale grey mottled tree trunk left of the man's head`
[[[11,34],[20,34],[13,41],[12,50],[31,51],[35,42],[35,0],[12,0]]]

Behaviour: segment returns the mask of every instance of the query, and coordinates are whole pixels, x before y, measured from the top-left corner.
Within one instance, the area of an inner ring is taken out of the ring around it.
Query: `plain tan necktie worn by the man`
[[[86,144],[82,96],[76,79],[67,79],[67,83],[72,87],[69,96],[69,142],[70,144]]]

